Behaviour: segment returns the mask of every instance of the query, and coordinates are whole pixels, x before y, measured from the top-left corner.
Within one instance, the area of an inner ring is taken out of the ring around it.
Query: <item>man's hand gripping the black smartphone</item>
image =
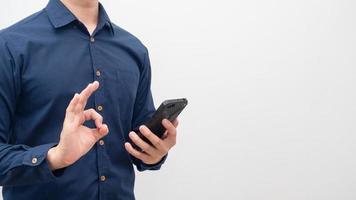
[[[152,165],[158,163],[168,151],[176,144],[178,120],[173,123],[169,120],[162,120],[162,125],[167,129],[164,137],[161,139],[151,132],[146,126],[140,126],[140,132],[152,145],[143,141],[135,132],[131,131],[129,137],[143,151],[140,152],[132,147],[128,142],[125,143],[126,150],[134,157],[142,160],[145,164]]]

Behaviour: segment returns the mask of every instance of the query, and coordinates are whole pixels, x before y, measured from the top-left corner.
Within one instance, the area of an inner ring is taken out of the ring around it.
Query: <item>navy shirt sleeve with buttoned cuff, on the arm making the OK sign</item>
[[[20,96],[20,68],[6,41],[0,37],[0,185],[17,186],[55,178],[47,163],[48,150],[56,144],[30,147],[10,144],[16,102]]]

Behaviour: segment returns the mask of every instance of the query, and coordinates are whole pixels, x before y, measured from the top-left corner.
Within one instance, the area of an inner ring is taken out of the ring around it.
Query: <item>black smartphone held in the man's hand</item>
[[[187,105],[188,100],[185,98],[165,100],[158,107],[152,118],[145,122],[144,125],[146,125],[147,128],[149,128],[159,138],[162,138],[166,132],[166,128],[164,128],[162,125],[162,120],[168,119],[169,121],[173,122]],[[140,131],[137,131],[137,135],[143,141],[152,145],[152,143],[145,136],[143,136]],[[135,144],[133,144],[133,146],[136,149],[139,149]]]

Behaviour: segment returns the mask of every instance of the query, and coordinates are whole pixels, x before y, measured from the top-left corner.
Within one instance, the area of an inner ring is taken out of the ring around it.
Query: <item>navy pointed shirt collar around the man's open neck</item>
[[[52,25],[55,28],[63,27],[77,20],[73,13],[67,7],[65,7],[65,5],[60,0],[50,0],[45,10]],[[102,28],[104,26],[108,26],[111,32],[114,34],[113,25],[110,21],[110,18],[104,7],[99,3],[98,28]]]

